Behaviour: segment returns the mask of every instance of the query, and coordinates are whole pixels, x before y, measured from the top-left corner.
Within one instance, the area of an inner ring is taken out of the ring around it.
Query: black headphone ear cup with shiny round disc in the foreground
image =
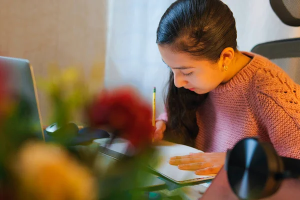
[[[271,143],[251,137],[227,151],[225,170],[240,199],[259,199],[274,194],[283,179],[300,177],[300,160],[281,157]]]

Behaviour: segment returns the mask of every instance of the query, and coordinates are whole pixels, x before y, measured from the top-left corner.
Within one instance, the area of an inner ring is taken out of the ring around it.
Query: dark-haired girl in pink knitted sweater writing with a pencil
[[[170,76],[154,137],[207,152],[172,157],[170,164],[217,173],[225,151],[252,136],[271,142],[281,156],[300,158],[300,86],[265,57],[237,50],[227,5],[176,0],[156,36]]]

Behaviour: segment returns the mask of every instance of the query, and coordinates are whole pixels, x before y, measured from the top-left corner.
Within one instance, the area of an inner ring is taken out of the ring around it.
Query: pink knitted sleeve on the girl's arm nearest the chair
[[[300,86],[268,68],[257,71],[253,84],[254,111],[277,153],[300,159]]]

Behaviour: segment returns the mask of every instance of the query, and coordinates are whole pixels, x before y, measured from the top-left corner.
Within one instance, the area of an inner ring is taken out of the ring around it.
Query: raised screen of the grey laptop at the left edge
[[[18,98],[18,110],[15,111],[24,119],[19,121],[20,127],[34,132],[38,138],[44,140],[35,80],[29,61],[0,56],[0,66],[8,72],[6,88]]]

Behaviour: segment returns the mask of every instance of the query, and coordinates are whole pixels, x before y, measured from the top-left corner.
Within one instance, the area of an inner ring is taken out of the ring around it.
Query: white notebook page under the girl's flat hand
[[[151,166],[155,171],[160,174],[173,179],[176,182],[186,183],[205,179],[211,179],[215,174],[208,175],[196,175],[194,170],[181,170],[176,165],[168,163],[169,158],[172,156],[187,155],[191,152],[203,152],[190,146],[175,144],[171,142],[162,141],[159,145],[156,145],[158,150],[158,165]]]

